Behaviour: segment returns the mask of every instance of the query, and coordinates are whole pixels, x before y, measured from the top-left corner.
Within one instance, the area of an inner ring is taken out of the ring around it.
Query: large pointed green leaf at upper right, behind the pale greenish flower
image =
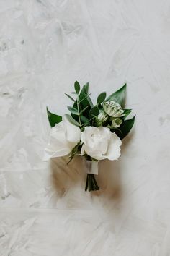
[[[125,106],[125,92],[126,92],[126,84],[122,86],[119,90],[117,90],[115,93],[112,93],[106,101],[115,101],[122,106],[122,108]]]

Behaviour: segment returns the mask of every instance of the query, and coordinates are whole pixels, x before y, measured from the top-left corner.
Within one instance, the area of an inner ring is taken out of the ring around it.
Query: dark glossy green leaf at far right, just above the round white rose
[[[120,137],[120,140],[122,140],[128,133],[130,132],[130,129],[133,128],[133,124],[135,122],[135,116],[133,116],[132,119],[128,119],[122,122],[119,129],[114,129],[113,132],[117,134],[117,136]]]

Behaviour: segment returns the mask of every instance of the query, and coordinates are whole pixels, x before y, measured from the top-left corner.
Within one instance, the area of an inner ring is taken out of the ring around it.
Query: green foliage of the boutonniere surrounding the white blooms
[[[66,96],[73,101],[73,106],[68,106],[68,110],[71,112],[71,115],[66,114],[68,120],[71,124],[74,124],[80,127],[81,131],[84,130],[86,126],[95,125],[95,121],[97,120],[97,116],[99,115],[99,111],[103,110],[103,102],[104,101],[115,101],[124,108],[125,106],[125,92],[126,92],[126,84],[122,86],[119,90],[109,97],[106,98],[106,92],[102,92],[97,97],[97,105],[94,106],[91,98],[89,97],[89,82],[87,82],[82,88],[79,82],[74,83],[75,92],[72,92],[73,95],[76,95],[76,99],[72,98],[71,95]],[[48,111],[48,108],[47,108]],[[107,119],[103,123],[104,126],[107,126],[111,129],[112,132],[115,132],[120,139],[122,140],[128,133],[130,129],[132,129],[133,124],[135,122],[135,116],[132,119],[125,120],[127,116],[131,113],[132,109],[124,109],[123,116],[120,117],[123,121],[120,127],[112,129],[112,118]],[[62,121],[62,117],[48,111],[48,120],[50,122],[50,126],[54,127],[55,124],[58,124]],[[91,178],[89,178],[91,179]],[[92,181],[92,180],[91,180]]]

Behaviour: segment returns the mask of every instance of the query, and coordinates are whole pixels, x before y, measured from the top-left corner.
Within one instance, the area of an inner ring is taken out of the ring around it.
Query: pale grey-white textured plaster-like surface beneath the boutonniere
[[[0,0],[0,256],[170,255],[170,1]],[[42,161],[45,107],[128,83],[120,161]]]

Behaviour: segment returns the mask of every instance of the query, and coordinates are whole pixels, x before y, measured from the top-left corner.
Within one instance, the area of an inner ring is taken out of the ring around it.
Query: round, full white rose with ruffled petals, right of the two
[[[107,127],[85,127],[81,133],[81,155],[86,153],[92,158],[117,160],[120,157],[120,138]]]

